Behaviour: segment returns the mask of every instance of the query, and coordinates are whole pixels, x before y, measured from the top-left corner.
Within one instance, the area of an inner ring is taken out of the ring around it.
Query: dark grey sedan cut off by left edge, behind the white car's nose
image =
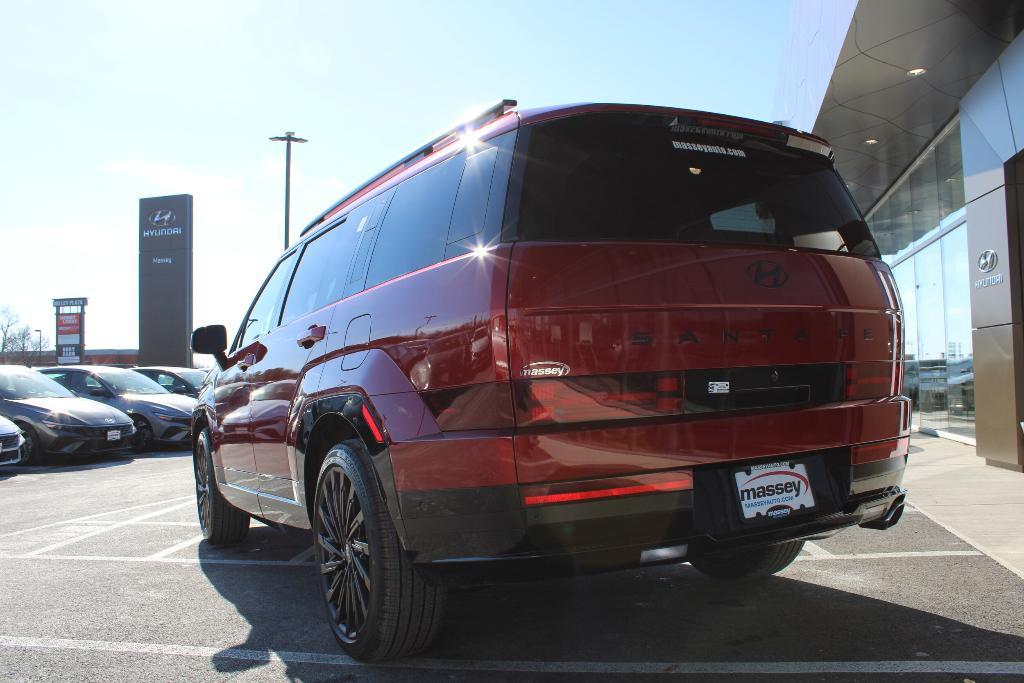
[[[110,405],[78,398],[48,377],[0,366],[0,416],[25,436],[22,464],[47,455],[86,456],[124,450],[135,433],[131,418]]]

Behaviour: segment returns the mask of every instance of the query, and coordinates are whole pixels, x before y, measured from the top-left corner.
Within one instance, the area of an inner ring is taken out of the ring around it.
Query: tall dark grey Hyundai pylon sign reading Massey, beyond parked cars
[[[191,366],[191,195],[138,201],[138,361]]]

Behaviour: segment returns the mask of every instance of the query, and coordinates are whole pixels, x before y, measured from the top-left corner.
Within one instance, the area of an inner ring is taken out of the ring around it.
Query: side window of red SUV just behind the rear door
[[[370,259],[367,287],[443,258],[464,164],[460,154],[398,185]]]

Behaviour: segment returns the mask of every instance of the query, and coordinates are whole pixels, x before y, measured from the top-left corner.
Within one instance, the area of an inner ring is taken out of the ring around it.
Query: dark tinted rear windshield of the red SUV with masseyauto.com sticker
[[[520,240],[756,244],[879,255],[831,164],[784,140],[637,114],[585,115],[525,130],[513,228]]]

